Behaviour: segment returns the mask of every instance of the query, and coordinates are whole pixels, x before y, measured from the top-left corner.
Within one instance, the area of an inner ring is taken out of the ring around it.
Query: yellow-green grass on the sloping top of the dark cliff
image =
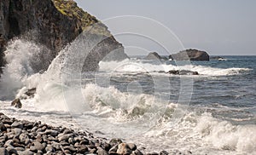
[[[55,3],[55,8],[61,12],[61,14],[67,15],[70,18],[76,17],[81,21],[83,31],[90,26],[94,26],[94,33],[110,36],[108,27],[104,26],[101,21],[97,20],[95,16],[92,16],[79,8],[76,2],[73,0],[52,0]]]

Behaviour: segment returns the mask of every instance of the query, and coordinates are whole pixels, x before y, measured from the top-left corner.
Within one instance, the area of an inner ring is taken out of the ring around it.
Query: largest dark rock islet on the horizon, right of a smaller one
[[[197,49],[186,49],[177,54],[170,55],[172,60],[210,60],[210,56],[205,51]]]

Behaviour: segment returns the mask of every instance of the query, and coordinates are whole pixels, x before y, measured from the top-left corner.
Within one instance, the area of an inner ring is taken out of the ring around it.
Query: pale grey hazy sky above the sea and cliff
[[[255,0],[76,2],[79,7],[102,20],[131,54],[136,53],[133,49],[140,49],[165,55],[165,49],[169,53],[177,53],[183,47],[205,50],[209,55],[256,55]],[[116,16],[124,17],[113,18]],[[109,18],[112,20],[106,20]],[[130,31],[132,34],[138,32],[135,30],[138,29],[143,35],[119,35],[122,29],[124,33]],[[154,43],[150,43],[149,37],[145,36],[149,36]]]

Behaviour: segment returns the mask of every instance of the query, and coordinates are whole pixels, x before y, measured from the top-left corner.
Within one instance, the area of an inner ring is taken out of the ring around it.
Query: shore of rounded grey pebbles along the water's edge
[[[0,112],[0,154],[192,154],[147,152],[121,139],[96,137],[88,131],[54,127],[47,123],[9,118]]]

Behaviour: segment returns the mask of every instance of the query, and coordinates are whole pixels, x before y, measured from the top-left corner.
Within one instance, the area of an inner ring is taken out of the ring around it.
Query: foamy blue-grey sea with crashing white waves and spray
[[[256,56],[210,61],[131,56],[82,72],[76,50],[67,46],[47,71],[36,72],[33,66],[46,63],[38,59],[40,45],[11,41],[0,78],[0,112],[120,138],[143,152],[256,154]],[[172,70],[186,73],[167,73]],[[32,88],[36,94],[27,96]],[[10,106],[15,98],[22,108]]]

